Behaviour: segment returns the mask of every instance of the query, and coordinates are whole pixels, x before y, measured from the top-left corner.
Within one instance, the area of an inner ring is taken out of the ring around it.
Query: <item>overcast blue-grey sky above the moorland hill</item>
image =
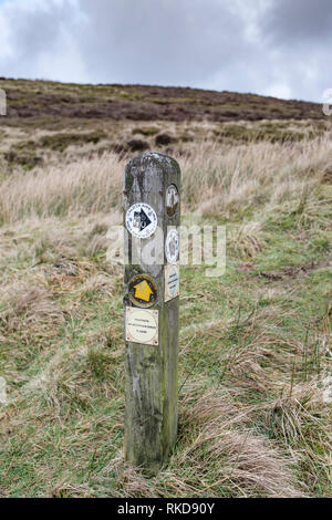
[[[322,101],[332,0],[0,0],[0,75]]]

